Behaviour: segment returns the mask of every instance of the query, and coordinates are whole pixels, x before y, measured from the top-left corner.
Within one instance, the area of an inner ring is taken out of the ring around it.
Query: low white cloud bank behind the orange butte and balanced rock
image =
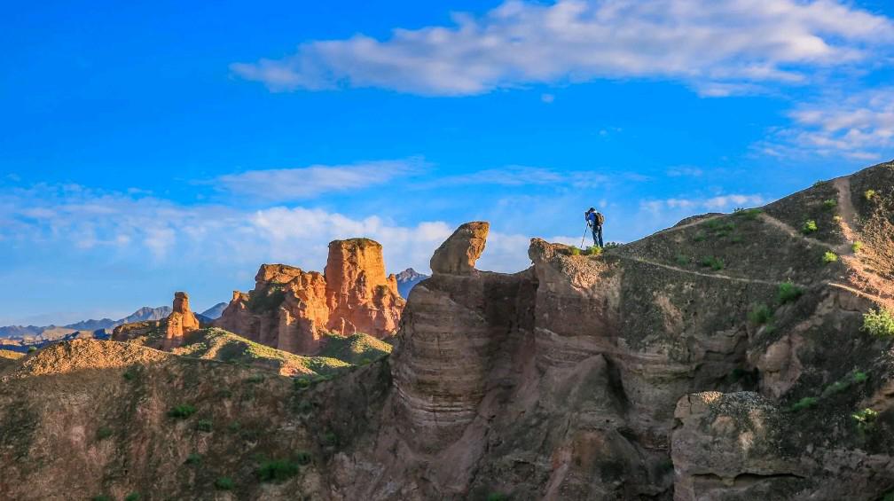
[[[77,193],[50,185],[0,192],[0,239],[7,252],[61,249],[65,259],[132,263],[170,269],[183,263],[215,263],[233,273],[260,263],[290,263],[322,271],[334,239],[367,237],[384,246],[389,271],[428,270],[434,250],[455,223],[421,221],[401,225],[381,216],[362,219],[308,207],[238,210],[220,205],[100,192]],[[39,215],[39,218],[35,218]],[[461,221],[460,221],[461,222]],[[492,232],[487,259],[494,271],[527,267],[527,236]],[[62,257],[62,256],[60,256]]]

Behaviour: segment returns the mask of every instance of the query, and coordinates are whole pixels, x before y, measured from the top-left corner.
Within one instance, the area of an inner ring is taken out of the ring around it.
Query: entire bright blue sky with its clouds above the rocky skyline
[[[367,236],[427,271],[609,240],[894,157],[894,6],[42,2],[7,9],[0,325],[197,309]]]

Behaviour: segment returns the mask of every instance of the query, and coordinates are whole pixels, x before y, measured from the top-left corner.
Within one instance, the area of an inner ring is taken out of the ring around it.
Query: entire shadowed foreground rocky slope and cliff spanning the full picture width
[[[894,163],[603,255],[534,239],[515,274],[475,269],[487,230],[438,249],[390,358],[331,381],[99,341],[6,365],[0,497],[894,493]]]

